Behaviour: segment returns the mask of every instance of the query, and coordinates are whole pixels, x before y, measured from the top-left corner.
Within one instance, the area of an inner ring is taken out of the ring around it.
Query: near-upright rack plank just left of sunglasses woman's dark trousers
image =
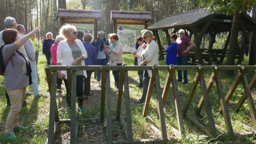
[[[124,93],[125,93],[125,111],[126,111],[126,127],[127,127],[127,140],[132,143],[132,115],[131,115],[131,98],[129,93],[129,78],[128,71],[125,71],[124,75]],[[122,86],[123,87],[123,86]],[[119,87],[120,88],[120,87]],[[121,97],[122,98],[122,97]]]

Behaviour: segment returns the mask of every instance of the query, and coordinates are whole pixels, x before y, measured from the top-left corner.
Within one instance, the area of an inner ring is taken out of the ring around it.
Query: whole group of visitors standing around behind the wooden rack
[[[38,96],[38,82],[36,64],[38,59],[38,43],[35,40],[35,34],[40,30],[36,27],[33,31],[26,34],[23,25],[18,25],[14,18],[6,17],[4,20],[6,29],[0,32],[0,45],[3,53],[4,87],[6,89],[6,98],[10,99],[10,112],[6,119],[6,138],[15,140],[13,132],[23,131],[28,127],[19,125],[19,112],[24,103],[26,87],[31,85],[33,94]],[[186,65],[188,51],[195,46],[193,41],[184,36],[185,31],[180,29],[179,38],[176,34],[170,35],[171,45],[166,49],[166,64]],[[47,65],[58,66],[122,66],[123,63],[123,45],[120,43],[118,35],[109,34],[106,40],[105,32],[99,31],[97,40],[92,41],[92,34],[77,31],[74,25],[63,25],[59,35],[54,40],[52,33],[47,32],[43,41],[43,54],[47,59]],[[30,40],[29,40],[30,38]],[[3,40],[3,41],[2,41]],[[132,52],[137,57],[138,66],[158,65],[159,48],[154,41],[153,32],[147,29],[141,31],[141,36],[136,39],[138,50]],[[0,55],[1,56],[1,55]],[[90,79],[93,71],[77,71],[77,103],[78,111],[84,113],[83,101],[90,96]],[[181,71],[179,71],[179,81],[182,81]],[[143,104],[147,96],[148,83],[152,76],[151,70],[138,71],[140,77],[140,87],[143,87],[143,93],[139,101],[135,104]],[[97,71],[97,81],[100,83],[101,71]],[[119,71],[113,71],[115,79],[115,90],[119,88]],[[57,87],[61,89],[61,83],[65,83],[67,104],[70,106],[70,92],[68,91],[67,71],[58,71]],[[187,72],[184,71],[184,82],[187,83]],[[84,87],[83,87],[84,83]]]

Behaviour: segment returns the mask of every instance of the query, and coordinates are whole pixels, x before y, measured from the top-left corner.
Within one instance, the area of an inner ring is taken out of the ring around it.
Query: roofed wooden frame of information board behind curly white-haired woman
[[[100,10],[65,10],[59,9],[57,17],[60,18],[60,24],[93,24],[94,39],[97,39],[98,21],[100,19]]]

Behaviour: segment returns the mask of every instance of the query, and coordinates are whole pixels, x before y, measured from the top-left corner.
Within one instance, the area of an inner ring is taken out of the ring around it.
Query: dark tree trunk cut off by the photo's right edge
[[[253,6],[252,17],[256,20],[256,4]],[[249,65],[253,66],[256,64],[256,31],[250,34],[249,44]]]

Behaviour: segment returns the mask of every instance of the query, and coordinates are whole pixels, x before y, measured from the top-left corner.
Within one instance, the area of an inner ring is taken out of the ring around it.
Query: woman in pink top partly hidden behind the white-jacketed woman
[[[65,38],[60,35],[60,36],[56,36],[55,40],[56,41],[51,47],[52,65],[57,64],[57,48],[58,48],[59,42],[65,40]],[[61,89],[61,83],[62,83],[62,80],[60,78],[57,78],[57,89]]]

